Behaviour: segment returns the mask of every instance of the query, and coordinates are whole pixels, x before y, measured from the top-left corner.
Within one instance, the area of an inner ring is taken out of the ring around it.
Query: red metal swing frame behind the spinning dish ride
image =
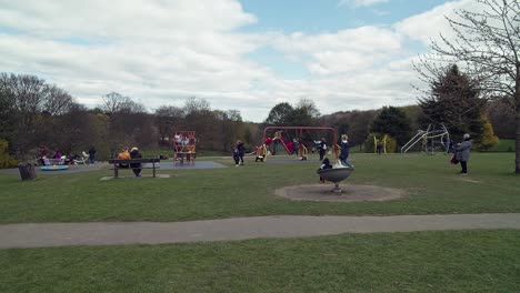
[[[272,143],[280,143],[283,149],[287,151],[288,154],[293,154],[293,150],[290,149],[288,146],[289,142],[286,142],[286,140],[283,139],[283,132],[282,130],[296,130],[297,132],[299,132],[299,137],[300,139],[303,137],[303,130],[326,130],[326,131],[332,131],[333,133],[333,144],[331,146],[332,149],[332,153],[334,154],[334,159],[338,160],[338,152],[339,152],[339,148],[338,148],[338,144],[336,143],[337,140],[338,140],[338,137],[336,134],[336,130],[333,128],[321,128],[321,127],[267,127],[266,129],[263,129],[263,135],[262,135],[262,144],[261,145],[264,145],[267,148],[266,144],[270,144],[268,143],[268,135],[267,135],[267,132],[269,130],[278,130],[277,132],[274,132],[274,139],[272,140]],[[292,144],[292,142],[291,142]],[[259,146],[260,149],[260,146]],[[309,158],[309,151],[308,149],[306,148],[306,145],[303,145],[303,143],[301,141],[299,141],[298,143],[298,150],[297,150],[297,159],[298,160],[307,160]],[[267,156],[268,152],[266,152],[266,156]]]

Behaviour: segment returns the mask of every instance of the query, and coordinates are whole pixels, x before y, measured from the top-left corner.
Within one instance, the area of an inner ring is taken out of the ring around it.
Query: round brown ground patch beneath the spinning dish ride
[[[381,188],[377,185],[340,184],[341,193],[332,192],[332,183],[304,184],[278,189],[274,193],[293,201],[326,201],[326,202],[362,202],[390,201],[406,195],[401,189]]]

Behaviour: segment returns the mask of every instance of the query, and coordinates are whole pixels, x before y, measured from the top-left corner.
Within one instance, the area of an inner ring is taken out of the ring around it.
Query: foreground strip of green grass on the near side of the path
[[[0,250],[0,292],[519,292],[520,231]]]

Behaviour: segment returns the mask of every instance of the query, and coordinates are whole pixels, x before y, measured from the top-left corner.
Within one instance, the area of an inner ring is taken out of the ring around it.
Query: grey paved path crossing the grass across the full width
[[[342,233],[514,229],[520,213],[390,216],[272,215],[191,222],[20,223],[0,225],[0,249],[159,244]]]

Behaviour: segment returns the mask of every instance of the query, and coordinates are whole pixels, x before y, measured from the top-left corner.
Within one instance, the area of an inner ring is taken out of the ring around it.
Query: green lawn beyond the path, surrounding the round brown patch
[[[251,158],[248,158],[251,159]],[[468,176],[448,155],[353,154],[352,184],[404,189],[388,202],[318,203],[278,198],[278,188],[318,183],[319,162],[254,163],[212,170],[161,170],[169,179],[100,181],[109,170],[39,174],[33,182],[0,174],[0,223],[187,221],[267,214],[428,214],[520,212],[513,153],[473,153]],[[150,170],[144,172],[151,172]],[[128,173],[130,173],[128,171]]]

